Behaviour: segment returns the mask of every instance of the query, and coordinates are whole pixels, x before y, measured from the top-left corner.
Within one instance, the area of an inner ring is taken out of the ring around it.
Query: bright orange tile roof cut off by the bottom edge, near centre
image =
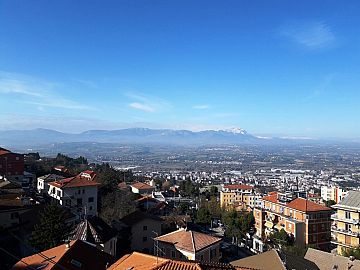
[[[164,259],[152,255],[133,252],[120,258],[116,263],[108,268],[109,270],[248,270],[251,268],[244,268],[232,266],[231,264],[221,263],[203,263],[195,261],[176,261]]]

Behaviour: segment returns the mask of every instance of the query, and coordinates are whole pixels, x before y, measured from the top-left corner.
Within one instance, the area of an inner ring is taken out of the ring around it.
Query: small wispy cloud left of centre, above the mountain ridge
[[[125,96],[131,100],[129,107],[143,112],[159,112],[171,108],[171,104],[162,98],[147,96],[139,93],[126,93]]]

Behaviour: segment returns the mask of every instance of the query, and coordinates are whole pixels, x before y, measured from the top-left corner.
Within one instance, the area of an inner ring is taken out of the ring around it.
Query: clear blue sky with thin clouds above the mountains
[[[360,137],[360,1],[0,0],[0,129]]]

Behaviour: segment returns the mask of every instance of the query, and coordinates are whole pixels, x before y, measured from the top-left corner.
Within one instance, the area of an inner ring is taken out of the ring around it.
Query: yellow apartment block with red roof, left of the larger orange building
[[[254,208],[261,196],[249,185],[224,185],[220,191],[220,207],[225,209]]]

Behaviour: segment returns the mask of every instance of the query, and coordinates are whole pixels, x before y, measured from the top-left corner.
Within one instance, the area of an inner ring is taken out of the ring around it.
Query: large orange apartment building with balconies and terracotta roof
[[[295,193],[272,192],[254,209],[256,238],[254,249],[262,251],[263,240],[284,229],[296,245],[315,245],[329,250],[331,208],[297,197]]]

